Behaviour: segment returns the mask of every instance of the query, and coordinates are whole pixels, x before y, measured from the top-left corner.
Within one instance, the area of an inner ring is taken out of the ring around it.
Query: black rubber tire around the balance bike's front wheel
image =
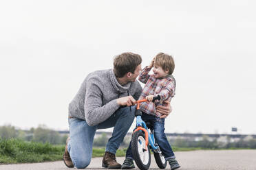
[[[150,154],[150,149],[149,149],[149,145],[147,145],[147,149],[149,151],[149,162],[147,163],[147,165],[145,165],[141,159],[140,159],[140,154],[138,153],[138,137],[142,136],[143,138],[145,138],[145,135],[140,132],[134,132],[134,134],[131,137],[131,153],[134,156],[134,160],[136,162],[136,165],[138,166],[139,169],[141,170],[147,170],[149,169],[150,163],[151,163],[151,154]]]

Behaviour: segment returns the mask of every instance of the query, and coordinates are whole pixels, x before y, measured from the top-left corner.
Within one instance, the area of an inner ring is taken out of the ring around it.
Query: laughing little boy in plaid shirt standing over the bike
[[[149,75],[153,67],[153,75]],[[140,99],[153,100],[153,97],[160,95],[161,99],[153,102],[144,102],[140,104],[140,110],[142,111],[143,121],[149,121],[153,126],[154,136],[156,143],[158,143],[165,160],[169,161],[171,170],[180,168],[171,145],[167,141],[167,137],[164,134],[164,118],[166,116],[156,112],[156,106],[163,105],[163,101],[171,101],[171,98],[175,95],[175,79],[173,73],[175,64],[173,58],[166,53],[158,53],[153,58],[149,66],[139,75],[138,80],[145,84],[142,90]],[[133,158],[131,154],[131,145],[127,149],[125,162],[122,165],[122,169],[134,168]]]

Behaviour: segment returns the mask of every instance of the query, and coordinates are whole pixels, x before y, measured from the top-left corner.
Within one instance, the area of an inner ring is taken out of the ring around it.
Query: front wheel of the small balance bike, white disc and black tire
[[[151,155],[149,146],[146,146],[144,133],[140,131],[134,132],[134,134],[131,137],[131,152],[132,155],[134,156],[134,160],[139,169],[149,169]]]

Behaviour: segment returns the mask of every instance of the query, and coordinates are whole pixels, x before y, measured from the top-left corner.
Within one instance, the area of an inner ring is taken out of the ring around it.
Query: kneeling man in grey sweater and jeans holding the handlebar
[[[121,168],[115,155],[134,121],[134,105],[142,92],[136,80],[141,71],[141,62],[138,54],[122,53],[114,58],[114,69],[87,75],[69,106],[70,138],[63,154],[67,167],[87,167],[92,159],[96,130],[114,127],[102,166]],[[168,105],[158,110],[168,115],[170,107]]]

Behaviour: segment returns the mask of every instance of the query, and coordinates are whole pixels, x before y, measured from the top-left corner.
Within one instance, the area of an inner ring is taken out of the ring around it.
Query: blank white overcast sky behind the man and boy
[[[173,55],[166,132],[256,134],[255,1],[1,1],[0,125],[67,130],[85,76]],[[134,125],[131,129],[134,128]],[[130,130],[131,130],[130,129]]]

